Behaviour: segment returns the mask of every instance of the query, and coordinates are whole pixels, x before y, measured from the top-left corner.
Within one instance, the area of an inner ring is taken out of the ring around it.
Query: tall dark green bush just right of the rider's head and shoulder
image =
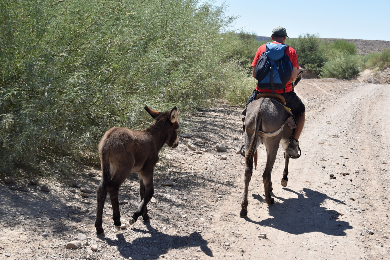
[[[323,41],[317,34],[307,33],[295,39],[287,38],[286,44],[296,50],[300,66],[310,73],[319,75],[321,67],[327,61],[327,56],[322,48]]]

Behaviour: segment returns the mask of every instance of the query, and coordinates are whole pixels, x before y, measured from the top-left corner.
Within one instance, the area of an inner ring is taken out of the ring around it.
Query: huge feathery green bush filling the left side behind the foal
[[[207,105],[232,20],[197,0],[2,0],[0,170],[59,177],[97,163],[108,128],[145,128],[144,105]]]

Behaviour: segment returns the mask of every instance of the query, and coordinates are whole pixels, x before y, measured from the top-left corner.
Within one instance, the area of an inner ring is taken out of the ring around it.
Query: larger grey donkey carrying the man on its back
[[[301,80],[302,72],[298,74],[293,83],[293,87]],[[260,94],[259,94],[260,95]],[[284,97],[279,95],[284,102]],[[245,176],[244,176],[244,197],[241,201],[240,217],[245,218],[248,214],[248,186],[252,177],[253,160],[255,168],[257,164],[257,147],[264,143],[267,153],[267,163],[263,173],[265,202],[272,205],[275,199],[271,198],[272,182],[271,171],[275,163],[279,144],[282,144],[284,151],[289,145],[289,140],[293,135],[293,129],[284,127],[287,121],[291,122],[291,112],[287,111],[280,102],[268,98],[259,99],[248,104],[245,118]],[[281,184],[286,187],[289,174],[289,155],[284,152],[284,171]]]

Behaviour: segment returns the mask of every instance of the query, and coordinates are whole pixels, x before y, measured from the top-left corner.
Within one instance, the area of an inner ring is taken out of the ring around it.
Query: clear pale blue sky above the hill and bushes
[[[289,37],[318,33],[321,38],[390,41],[390,0],[215,0],[226,14],[240,16],[233,29],[270,36],[276,26]],[[273,5],[275,4],[275,5]]]

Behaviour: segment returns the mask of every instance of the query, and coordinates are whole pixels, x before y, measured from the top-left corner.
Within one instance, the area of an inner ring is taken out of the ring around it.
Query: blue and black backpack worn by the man
[[[293,73],[293,64],[286,54],[286,44],[266,43],[266,51],[261,54],[255,67],[257,86],[263,90],[284,90]]]

